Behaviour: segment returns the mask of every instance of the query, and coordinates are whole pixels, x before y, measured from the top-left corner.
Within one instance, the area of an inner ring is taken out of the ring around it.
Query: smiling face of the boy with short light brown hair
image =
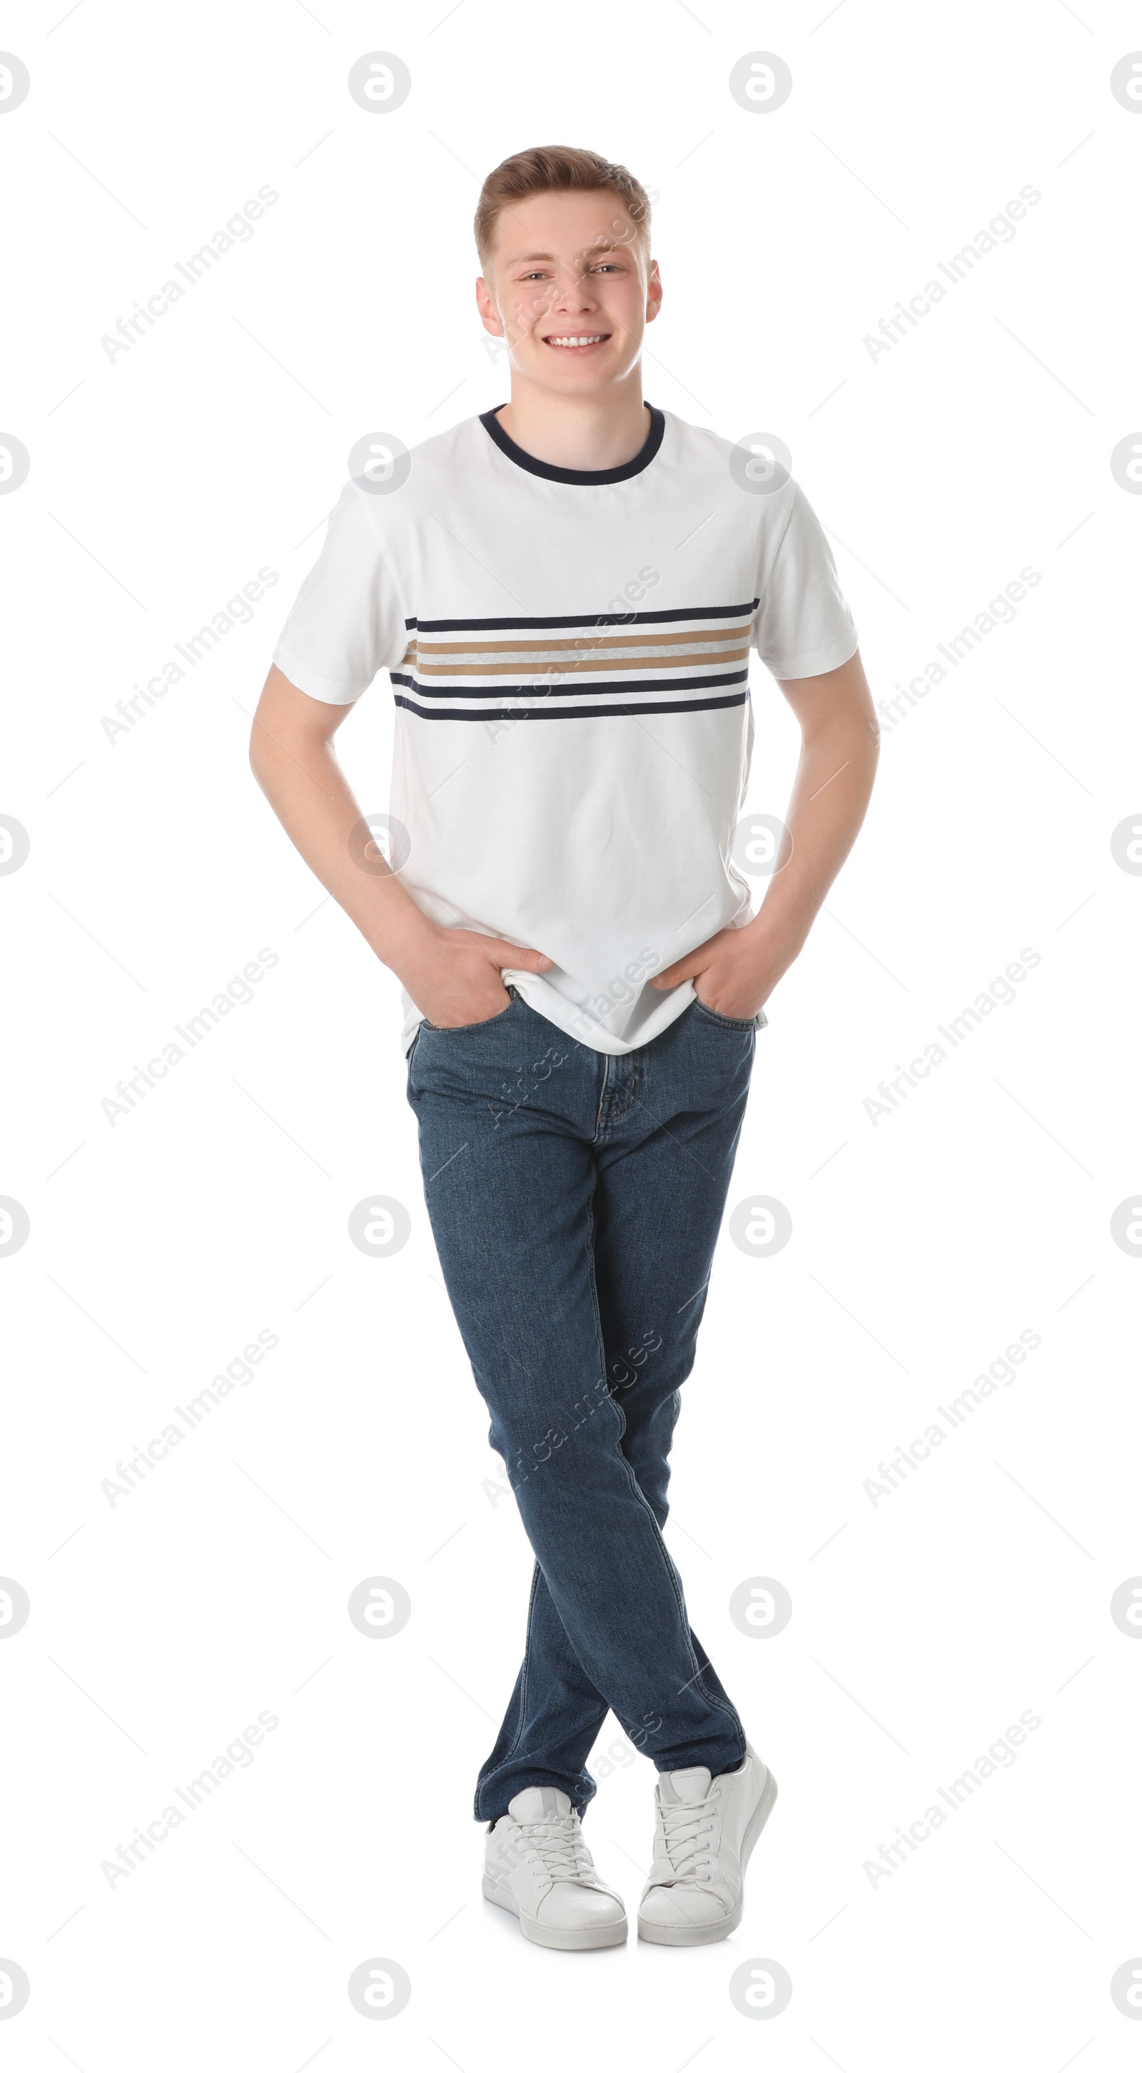
[[[529,195],[506,207],[477,282],[485,332],[512,369],[558,394],[593,394],[638,363],[661,282],[618,195]]]

